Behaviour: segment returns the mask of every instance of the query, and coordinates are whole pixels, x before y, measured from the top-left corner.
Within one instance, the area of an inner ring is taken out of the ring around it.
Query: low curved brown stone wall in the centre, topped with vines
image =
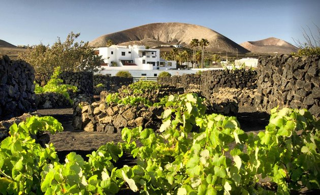
[[[81,105],[81,103],[80,103]],[[82,107],[82,108],[81,108]],[[74,116],[75,129],[88,132],[116,133],[123,127],[158,128],[162,110],[145,105],[119,105],[94,102],[80,106]]]

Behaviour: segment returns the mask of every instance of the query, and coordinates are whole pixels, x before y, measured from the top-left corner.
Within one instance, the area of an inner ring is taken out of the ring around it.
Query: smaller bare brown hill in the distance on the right
[[[298,50],[296,46],[273,37],[260,41],[247,41],[240,45],[254,53],[291,53]]]

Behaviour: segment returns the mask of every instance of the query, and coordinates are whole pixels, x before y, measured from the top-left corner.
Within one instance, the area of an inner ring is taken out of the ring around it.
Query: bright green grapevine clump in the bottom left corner
[[[52,144],[42,148],[30,137],[44,131],[61,132],[61,123],[51,116],[27,118],[10,127],[10,137],[0,146],[0,193],[40,194],[41,172],[58,161]]]

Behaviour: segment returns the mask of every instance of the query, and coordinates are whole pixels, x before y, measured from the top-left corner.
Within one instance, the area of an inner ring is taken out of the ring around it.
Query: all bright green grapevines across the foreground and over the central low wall
[[[62,131],[61,124],[30,117],[12,125],[1,143],[0,193],[291,194],[320,188],[320,120],[307,110],[274,108],[265,131],[254,135],[242,131],[236,117],[206,114],[195,93],[150,102],[139,95],[145,87],[136,87],[131,96],[108,95],[106,103],[162,108],[159,129],[123,128],[123,142],[106,143],[87,161],[71,152],[61,164],[52,144],[43,148],[33,139]],[[116,167],[124,154],[137,164]]]

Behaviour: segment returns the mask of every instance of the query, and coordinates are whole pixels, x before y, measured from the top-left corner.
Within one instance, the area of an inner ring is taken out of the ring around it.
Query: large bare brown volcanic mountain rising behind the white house
[[[210,28],[178,22],[151,23],[137,26],[103,35],[89,44],[94,47],[103,47],[108,40],[112,40],[114,44],[120,45],[135,44],[153,47],[169,44],[190,48],[189,43],[192,39],[207,39],[209,45],[206,47],[206,51],[236,53],[238,50],[239,53],[250,52]]]

